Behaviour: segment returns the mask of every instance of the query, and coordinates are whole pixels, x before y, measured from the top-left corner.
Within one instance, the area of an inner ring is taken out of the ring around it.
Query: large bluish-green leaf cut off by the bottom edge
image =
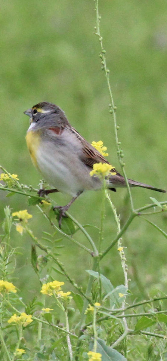
[[[93,343],[91,343],[91,350]],[[112,347],[106,346],[101,339],[97,340],[97,352],[101,353],[103,361],[127,361],[127,359]]]

